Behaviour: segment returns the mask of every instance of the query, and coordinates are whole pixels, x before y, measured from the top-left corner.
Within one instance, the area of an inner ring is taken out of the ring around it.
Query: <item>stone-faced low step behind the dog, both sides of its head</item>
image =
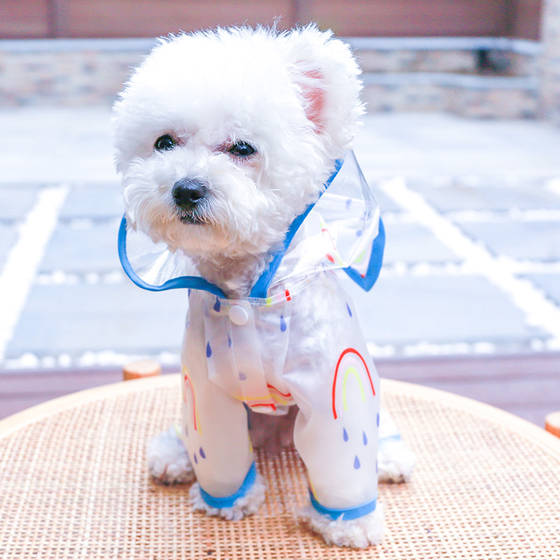
[[[369,111],[534,118],[540,43],[495,37],[345,38]],[[0,105],[110,104],[152,39],[0,41]]]

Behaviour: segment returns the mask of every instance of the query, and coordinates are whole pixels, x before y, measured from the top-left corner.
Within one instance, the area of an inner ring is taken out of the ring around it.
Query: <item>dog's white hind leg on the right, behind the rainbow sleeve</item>
[[[379,423],[379,482],[407,482],[414,470],[416,456],[400,437],[395,421],[391,415],[381,409]]]

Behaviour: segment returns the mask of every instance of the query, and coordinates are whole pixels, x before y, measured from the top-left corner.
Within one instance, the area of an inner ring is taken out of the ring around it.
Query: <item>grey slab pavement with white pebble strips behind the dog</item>
[[[0,370],[177,363],[186,294],[120,271],[106,107],[0,110]],[[560,129],[367,116],[386,264],[349,285],[374,356],[560,350]]]

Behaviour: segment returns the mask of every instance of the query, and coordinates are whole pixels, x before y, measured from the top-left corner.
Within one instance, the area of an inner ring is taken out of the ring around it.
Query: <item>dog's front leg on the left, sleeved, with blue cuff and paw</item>
[[[186,406],[184,439],[197,483],[190,489],[193,507],[225,519],[255,513],[265,499],[265,485],[255,470],[247,413],[209,379],[193,391]]]

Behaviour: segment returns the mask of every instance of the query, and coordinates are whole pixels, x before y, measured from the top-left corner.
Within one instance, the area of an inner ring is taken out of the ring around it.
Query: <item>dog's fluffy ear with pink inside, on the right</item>
[[[349,45],[316,25],[290,31],[286,45],[290,78],[305,116],[333,149],[348,149],[364,112],[361,70]]]

